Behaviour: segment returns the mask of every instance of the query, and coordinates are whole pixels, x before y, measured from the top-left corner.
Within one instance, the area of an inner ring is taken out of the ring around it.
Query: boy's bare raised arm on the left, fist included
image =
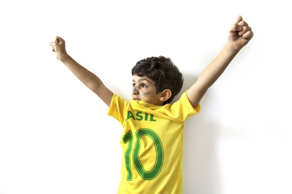
[[[56,36],[51,42],[52,50],[56,52],[56,57],[92,92],[102,99],[109,107],[113,93],[103,84],[103,82],[91,71],[78,64],[65,49],[65,41]]]

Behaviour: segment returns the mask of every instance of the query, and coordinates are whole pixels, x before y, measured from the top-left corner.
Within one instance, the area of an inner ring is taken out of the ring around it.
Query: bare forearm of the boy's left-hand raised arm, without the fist
[[[60,57],[60,61],[91,91],[94,91],[102,83],[95,74],[78,64],[70,55],[66,54]]]

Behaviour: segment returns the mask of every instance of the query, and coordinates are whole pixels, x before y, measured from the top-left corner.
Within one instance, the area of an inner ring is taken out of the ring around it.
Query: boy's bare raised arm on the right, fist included
[[[187,97],[194,108],[199,104],[208,88],[211,87],[224,72],[239,50],[242,49],[253,36],[254,32],[251,27],[242,20],[241,16],[238,16],[236,22],[228,31],[228,42],[224,49],[214,61],[201,72],[198,80],[187,91]]]

